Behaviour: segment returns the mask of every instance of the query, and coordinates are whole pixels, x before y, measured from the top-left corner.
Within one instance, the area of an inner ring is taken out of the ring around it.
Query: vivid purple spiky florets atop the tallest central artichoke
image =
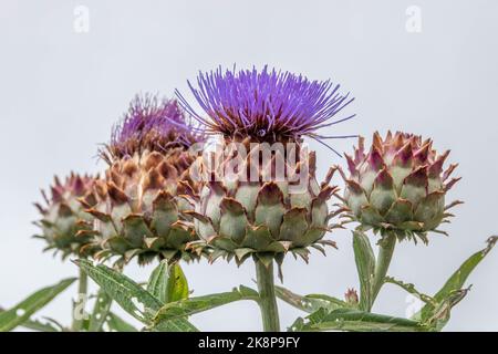
[[[183,106],[209,133],[251,137],[258,140],[298,139],[302,135],[321,137],[317,129],[343,122],[330,122],[354,98],[339,93],[330,81],[310,81],[302,75],[277,72],[264,66],[238,72],[219,67],[199,73],[199,88],[188,85],[209,118],[203,118],[177,91]]]

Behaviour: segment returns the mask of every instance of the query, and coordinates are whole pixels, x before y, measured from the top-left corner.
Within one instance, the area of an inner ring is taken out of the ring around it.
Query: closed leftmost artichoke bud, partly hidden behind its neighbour
[[[75,257],[93,254],[95,251],[91,246],[93,218],[84,211],[79,199],[85,198],[89,202],[95,202],[92,194],[94,184],[94,177],[71,173],[63,181],[54,177],[50,197],[44,190],[41,191],[44,205],[34,204],[41,214],[41,219],[34,225],[41,230],[41,235],[35,237],[48,243],[45,250],[62,253],[62,259],[71,254]]]

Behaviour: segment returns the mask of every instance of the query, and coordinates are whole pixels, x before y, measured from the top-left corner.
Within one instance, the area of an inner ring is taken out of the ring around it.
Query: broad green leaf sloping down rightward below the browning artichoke
[[[159,311],[162,302],[128,277],[103,264],[93,266],[87,260],[74,261],[84,269],[120,306],[138,321],[151,324],[152,314]],[[165,326],[166,329],[166,326]],[[170,321],[168,331],[197,331],[186,319]]]

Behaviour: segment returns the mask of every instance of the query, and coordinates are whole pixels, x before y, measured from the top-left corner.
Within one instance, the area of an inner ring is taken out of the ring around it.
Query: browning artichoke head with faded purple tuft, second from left
[[[188,148],[201,139],[176,101],[135,97],[101,150],[108,168],[95,184],[97,202],[85,204],[95,217],[100,259],[118,256],[127,262],[136,256],[144,264],[155,257],[197,257],[185,251],[197,237],[180,211],[193,208],[183,197],[197,188],[189,178],[195,156]]]

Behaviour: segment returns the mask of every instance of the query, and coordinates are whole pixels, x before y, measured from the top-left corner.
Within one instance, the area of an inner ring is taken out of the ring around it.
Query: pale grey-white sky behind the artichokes
[[[90,10],[90,32],[74,30],[76,6]],[[409,33],[405,11],[422,10],[422,32]],[[217,65],[270,64],[311,79],[331,77],[356,101],[357,118],[323,134],[403,129],[452,148],[464,179],[450,198],[466,204],[430,244],[398,246],[390,273],[434,293],[470,253],[498,232],[497,1],[15,1],[0,2],[0,305],[76,273],[41,253],[30,238],[31,202],[53,174],[94,173],[114,122],[136,92],[173,95],[186,79]],[[191,97],[191,96],[190,96]],[[352,140],[333,142],[350,150]],[[319,174],[344,164],[318,144]],[[340,183],[336,180],[336,183]],[[342,296],[357,288],[349,231],[331,237],[340,250],[305,266],[288,258],[284,285],[299,293]],[[447,330],[498,330],[498,251],[471,275],[474,287]],[[151,268],[126,273],[145,280]],[[250,263],[185,267],[195,294],[251,284]],[[41,314],[69,323],[66,291]],[[374,311],[405,315],[402,291],[386,285]],[[280,305],[283,326],[302,315]],[[252,303],[194,316],[204,330],[260,330]]]

